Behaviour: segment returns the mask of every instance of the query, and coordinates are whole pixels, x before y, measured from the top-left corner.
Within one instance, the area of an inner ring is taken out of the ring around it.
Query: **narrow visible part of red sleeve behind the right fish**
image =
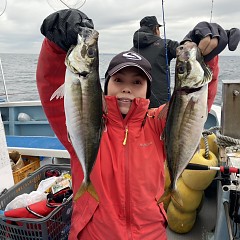
[[[213,73],[212,81],[208,84],[208,111],[210,111],[217,94],[219,74],[218,55],[209,62],[206,62],[206,64],[210,67]]]

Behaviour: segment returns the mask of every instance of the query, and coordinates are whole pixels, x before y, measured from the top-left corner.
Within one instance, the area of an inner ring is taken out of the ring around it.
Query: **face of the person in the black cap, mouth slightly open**
[[[108,95],[116,96],[122,114],[127,114],[134,98],[146,98],[147,76],[138,67],[125,67],[110,77]]]

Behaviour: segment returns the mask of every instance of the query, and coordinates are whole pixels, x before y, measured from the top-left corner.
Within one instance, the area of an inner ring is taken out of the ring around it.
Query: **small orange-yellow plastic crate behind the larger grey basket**
[[[15,184],[26,178],[30,173],[34,172],[40,167],[39,157],[22,155],[22,159],[25,166],[13,172],[13,180]]]

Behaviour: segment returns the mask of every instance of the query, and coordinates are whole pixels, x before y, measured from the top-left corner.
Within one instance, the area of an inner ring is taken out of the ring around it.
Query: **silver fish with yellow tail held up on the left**
[[[88,191],[99,197],[90,180],[103,129],[103,92],[99,78],[98,32],[84,28],[78,43],[67,53],[65,83],[51,99],[64,96],[68,137],[81,163],[84,179],[74,196]]]

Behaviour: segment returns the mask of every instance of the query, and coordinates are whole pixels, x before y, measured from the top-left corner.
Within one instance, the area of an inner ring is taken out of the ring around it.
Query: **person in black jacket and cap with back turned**
[[[140,53],[152,65],[152,92],[150,97],[150,108],[158,107],[170,99],[170,71],[169,65],[176,58],[177,41],[162,39],[160,27],[155,16],[144,17],[140,21],[140,29],[134,33],[133,48],[131,50]],[[166,48],[165,48],[166,44]],[[166,64],[166,50],[168,62]]]

